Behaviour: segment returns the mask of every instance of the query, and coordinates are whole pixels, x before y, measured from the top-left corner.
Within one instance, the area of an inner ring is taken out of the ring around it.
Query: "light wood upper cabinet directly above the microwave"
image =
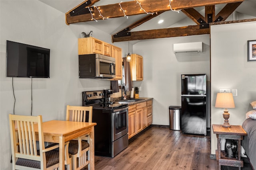
[[[78,39],[78,55],[94,53],[111,56],[111,45],[94,37]]]

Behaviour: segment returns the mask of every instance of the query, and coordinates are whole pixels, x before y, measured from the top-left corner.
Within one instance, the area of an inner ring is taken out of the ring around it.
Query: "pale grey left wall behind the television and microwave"
[[[8,114],[13,113],[12,78],[6,77],[6,40],[50,49],[50,78],[33,78],[33,112],[43,121],[63,120],[66,105],[82,105],[82,91],[110,88],[108,80],[78,78],[78,38],[111,36],[85,23],[66,25],[65,14],[38,0],[0,0],[0,169],[10,170]],[[115,43],[128,48],[128,43]],[[126,47],[127,46],[127,47]],[[124,51],[126,53],[126,51]],[[14,78],[15,114],[30,115],[31,79]]]

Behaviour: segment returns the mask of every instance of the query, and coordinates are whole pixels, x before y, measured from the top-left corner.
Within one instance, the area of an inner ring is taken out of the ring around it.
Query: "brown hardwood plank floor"
[[[151,127],[114,158],[95,156],[95,170],[217,170],[210,137]]]

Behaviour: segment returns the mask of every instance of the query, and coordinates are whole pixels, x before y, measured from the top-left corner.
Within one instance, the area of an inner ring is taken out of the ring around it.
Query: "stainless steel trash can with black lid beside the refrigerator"
[[[181,130],[181,106],[169,106],[170,130]]]

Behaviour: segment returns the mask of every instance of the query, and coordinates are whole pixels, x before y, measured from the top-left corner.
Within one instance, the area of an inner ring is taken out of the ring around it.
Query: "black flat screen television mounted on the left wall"
[[[7,40],[6,77],[50,78],[50,49]]]

